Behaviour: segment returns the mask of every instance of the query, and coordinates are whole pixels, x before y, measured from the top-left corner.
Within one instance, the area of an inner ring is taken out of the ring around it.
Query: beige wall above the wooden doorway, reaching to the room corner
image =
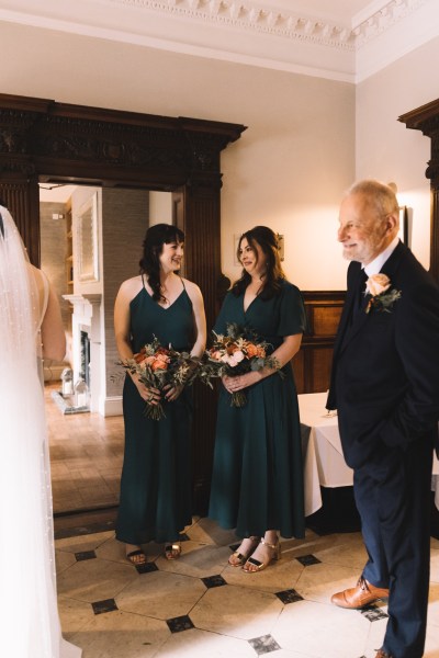
[[[233,235],[268,224],[302,290],[345,286],[335,231],[354,172],[353,86],[8,23],[0,43],[3,93],[248,126],[222,158],[224,272],[239,274]]]

